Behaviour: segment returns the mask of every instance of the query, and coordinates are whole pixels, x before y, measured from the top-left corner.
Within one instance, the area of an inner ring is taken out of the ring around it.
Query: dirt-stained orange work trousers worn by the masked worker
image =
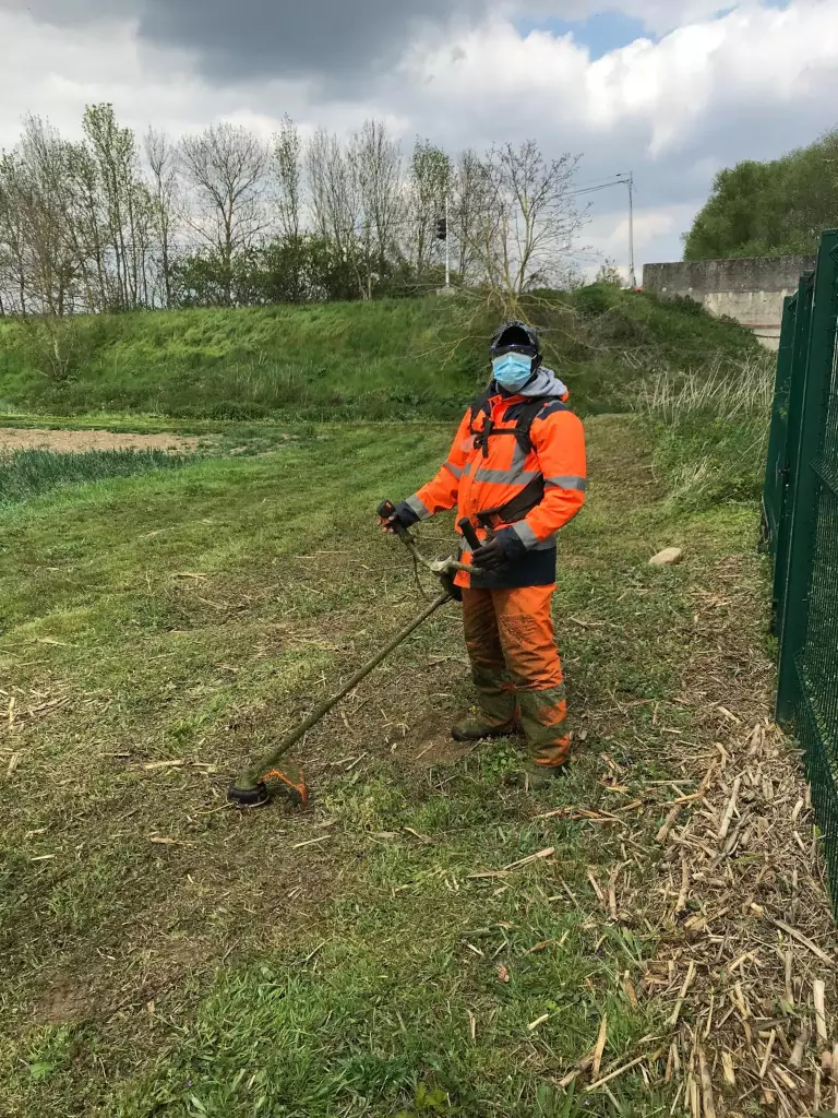
[[[512,729],[516,718],[536,764],[570,755],[568,700],[553,633],[555,585],[463,591],[463,619],[480,718]]]

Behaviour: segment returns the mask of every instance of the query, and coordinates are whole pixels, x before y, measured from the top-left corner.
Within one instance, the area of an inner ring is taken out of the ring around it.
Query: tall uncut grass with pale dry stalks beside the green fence
[[[644,383],[638,410],[656,427],[655,465],[673,502],[705,509],[759,496],[773,367],[765,353],[711,363],[701,377],[663,369]]]

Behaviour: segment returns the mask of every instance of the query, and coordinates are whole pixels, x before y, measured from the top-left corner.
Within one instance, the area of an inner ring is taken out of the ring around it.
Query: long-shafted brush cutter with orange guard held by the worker
[[[389,520],[394,512],[396,509],[390,501],[384,501],[384,503],[379,508],[379,517],[381,517],[382,520]],[[438,609],[456,597],[454,577],[457,571],[464,570],[469,575],[477,574],[474,567],[458,562],[456,559],[426,559],[419,553],[416,540],[407,528],[399,524],[398,521],[396,521],[394,527],[400,540],[410,550],[415,563],[427,568],[439,579],[442,586],[442,594],[429,603],[428,607],[423,609],[417,618],[410,622],[409,625],[406,625],[404,628],[392,638],[392,641],[390,641],[372,657],[372,660],[364,664],[363,667],[360,667],[333,699],[328,699],[326,702],[321,703],[320,707],[312,711],[305,721],[301,722],[299,726],[293,729],[279,742],[276,749],[273,749],[267,757],[264,757],[257,765],[254,765],[251,768],[247,769],[247,771],[241,774],[227,794],[227,798],[237,807],[264,807],[268,804],[270,802],[268,780],[277,780],[283,790],[289,795],[295,803],[308,803],[308,787],[305,781],[305,776],[296,765],[285,760],[287,755],[301,740],[301,738],[303,738],[313,727],[317,726],[317,723],[321,722],[326,714],[330,713],[330,711],[334,710],[334,708],[343,699],[345,699],[350,692],[354,691],[359,683],[363,682],[363,680],[365,680],[366,676],[379,666],[379,664],[383,663],[387,657],[399,647],[399,645],[403,644],[404,641],[411,636],[411,634],[416,633],[416,631],[420,628],[429,617],[432,617]],[[477,539],[470,521],[460,521],[460,530],[465,534],[466,540],[473,550],[479,547],[479,540]]]

